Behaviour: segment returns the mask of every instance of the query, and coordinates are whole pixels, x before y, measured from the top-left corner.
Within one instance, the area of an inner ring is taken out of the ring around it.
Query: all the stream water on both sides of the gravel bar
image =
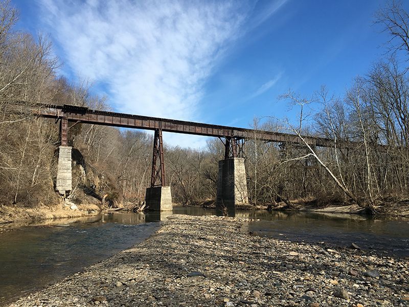
[[[0,305],[141,242],[172,212],[116,212],[61,219],[0,233]],[[214,209],[175,207],[173,214],[215,215]],[[284,240],[324,242],[409,256],[409,221],[353,214],[236,211],[260,219],[248,229]]]

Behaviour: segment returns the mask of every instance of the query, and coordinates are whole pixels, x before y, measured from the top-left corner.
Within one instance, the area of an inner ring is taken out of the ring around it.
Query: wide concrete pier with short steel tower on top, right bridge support
[[[248,204],[244,140],[226,138],[224,160],[219,161],[216,207],[232,212],[236,206]],[[241,157],[239,157],[241,156]]]

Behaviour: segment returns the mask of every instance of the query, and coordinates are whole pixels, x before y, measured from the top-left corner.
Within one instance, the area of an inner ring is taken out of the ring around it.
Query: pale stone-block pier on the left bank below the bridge
[[[59,146],[55,189],[62,195],[72,190],[71,149],[71,146]]]

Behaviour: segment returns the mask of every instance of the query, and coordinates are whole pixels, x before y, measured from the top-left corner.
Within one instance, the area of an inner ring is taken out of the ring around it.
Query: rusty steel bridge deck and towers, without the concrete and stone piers
[[[27,102],[18,102],[17,104],[27,105]],[[265,142],[304,144],[303,140],[297,135],[265,130],[101,111],[90,109],[89,107],[85,106],[71,104],[57,105],[37,103],[31,107],[37,116],[53,118],[56,120],[56,122],[58,120],[60,121],[61,146],[67,146],[67,131],[69,130],[69,122],[74,122],[73,125],[77,123],[86,123],[154,130],[151,187],[166,186],[162,131],[218,137],[220,139],[224,138],[224,159],[242,157],[245,140],[249,139],[257,139]],[[334,146],[334,141],[328,138],[303,136],[303,139],[311,146]],[[339,145],[342,146],[342,144]],[[349,146],[351,145],[349,144]]]

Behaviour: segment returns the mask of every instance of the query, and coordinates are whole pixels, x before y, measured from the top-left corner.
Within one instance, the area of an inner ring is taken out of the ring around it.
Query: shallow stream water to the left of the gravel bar
[[[0,233],[0,305],[129,248],[160,227],[130,212],[39,224]]]

